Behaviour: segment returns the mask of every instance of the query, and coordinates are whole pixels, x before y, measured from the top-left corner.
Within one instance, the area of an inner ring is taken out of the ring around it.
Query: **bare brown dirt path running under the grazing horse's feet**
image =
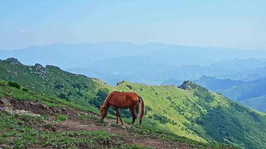
[[[109,133],[122,135],[124,140],[121,143],[137,144],[143,147],[153,147],[154,149],[194,149],[177,141],[168,142],[158,138],[137,135],[129,129],[128,124],[122,127],[120,124],[116,125],[116,120],[113,119],[106,119],[104,124],[101,124],[99,120],[81,120],[74,116],[64,122],[54,124],[54,126],[56,131],[105,130]]]

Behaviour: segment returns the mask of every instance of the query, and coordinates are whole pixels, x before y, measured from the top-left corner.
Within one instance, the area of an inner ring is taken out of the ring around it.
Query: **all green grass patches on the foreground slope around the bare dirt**
[[[57,97],[46,96],[34,91],[24,91],[8,85],[6,81],[0,80],[0,98],[13,97],[18,100],[34,100],[41,102],[49,107],[73,107],[79,111],[88,112],[91,108],[76,104],[72,101],[65,99],[59,99]],[[98,112],[98,111],[97,111]],[[58,118],[53,121],[54,123],[60,123],[66,121],[69,116],[58,115]],[[49,116],[51,116],[49,114]],[[94,120],[99,121],[97,117],[85,115],[81,116],[81,121]],[[86,131],[86,130],[68,130],[67,131],[47,131],[40,128],[52,128],[53,125],[46,124],[46,121],[50,120],[47,115],[40,115],[40,117],[32,117],[31,115],[17,115],[0,111],[0,147],[4,149],[15,148],[60,148],[60,149],[77,149],[79,147],[90,149],[106,148],[105,142],[110,144],[114,143],[116,147],[112,149],[152,149],[149,147],[141,147],[139,145],[124,144],[124,138],[121,135],[109,133],[105,130]],[[52,121],[52,120],[50,120]],[[91,124],[91,123],[89,123]],[[100,123],[101,124],[101,123]],[[121,129],[121,128],[120,128]],[[156,129],[152,127],[144,127],[142,131],[131,129],[136,137],[152,137],[158,138],[162,141],[169,142],[182,142],[180,145],[184,145],[186,149],[189,146],[191,148],[198,149],[238,149],[222,144],[204,144],[197,141],[193,141],[184,137],[177,136],[175,134],[166,133],[164,129]],[[15,139],[14,139],[15,138]],[[115,138],[115,139],[114,139]],[[183,149],[183,148],[182,148]],[[190,148],[189,148],[190,149]]]

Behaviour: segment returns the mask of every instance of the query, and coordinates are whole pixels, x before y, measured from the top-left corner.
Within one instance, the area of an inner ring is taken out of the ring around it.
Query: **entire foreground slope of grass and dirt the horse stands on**
[[[156,125],[139,131],[115,125],[114,119],[102,123],[90,108],[3,80],[0,120],[1,149],[239,149],[190,140]]]

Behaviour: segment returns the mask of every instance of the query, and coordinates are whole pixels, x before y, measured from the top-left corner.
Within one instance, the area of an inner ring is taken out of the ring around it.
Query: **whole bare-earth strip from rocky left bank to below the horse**
[[[47,120],[44,121],[45,124],[33,124],[33,127],[41,131],[60,133],[80,130],[105,130],[108,133],[119,134],[122,136],[122,142],[107,142],[105,143],[106,145],[103,146],[103,149],[117,147],[122,143],[136,144],[142,147],[153,147],[154,149],[196,149],[177,141],[166,141],[163,139],[150,137],[148,134],[137,134],[133,131],[133,129],[129,128],[130,125],[128,124],[125,124],[124,127],[121,125],[116,125],[116,120],[114,119],[106,118],[104,123],[102,123],[98,115],[79,111],[70,107],[50,107],[33,100],[17,100],[10,97],[1,98],[0,101],[5,102],[5,110],[9,113],[29,114],[32,116],[47,116]],[[68,119],[63,122],[56,122],[57,114],[65,114],[68,116]],[[86,119],[82,119],[82,116],[86,117]],[[49,127],[47,127],[47,125],[49,125]],[[40,147],[35,145],[29,147],[29,149],[35,148]],[[48,146],[47,148],[43,149],[51,149],[51,147]]]

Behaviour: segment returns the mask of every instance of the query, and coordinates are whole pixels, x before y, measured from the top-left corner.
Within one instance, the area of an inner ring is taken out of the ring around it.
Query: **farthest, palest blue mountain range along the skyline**
[[[161,43],[137,45],[130,42],[106,42],[100,44],[59,43],[48,46],[32,46],[21,50],[0,50],[0,59],[16,57],[28,65],[33,65],[34,63],[50,64],[57,65],[63,69],[86,68],[100,60],[136,55],[146,62],[154,64],[208,65],[234,58],[266,58],[266,51],[186,47]],[[260,62],[254,62],[254,64],[261,65]]]

